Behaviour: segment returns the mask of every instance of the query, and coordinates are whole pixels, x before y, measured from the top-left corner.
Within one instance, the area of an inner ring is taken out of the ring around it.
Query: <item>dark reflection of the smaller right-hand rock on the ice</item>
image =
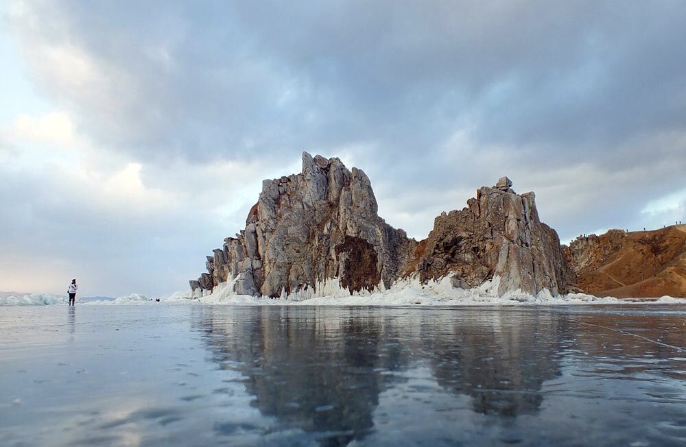
[[[449,337],[429,339],[434,376],[447,389],[471,396],[477,413],[535,413],[541,385],[560,374],[564,322],[547,313],[531,315],[527,325],[500,313],[488,316],[455,322]]]

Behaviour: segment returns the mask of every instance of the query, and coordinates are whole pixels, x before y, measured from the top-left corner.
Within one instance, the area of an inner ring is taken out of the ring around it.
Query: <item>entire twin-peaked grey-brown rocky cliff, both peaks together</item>
[[[305,152],[301,173],[263,182],[245,230],[207,256],[207,273],[191,289],[232,282],[236,293],[276,297],[335,281],[353,293],[451,275],[462,288],[495,280],[499,295],[567,291],[556,232],[539,220],[534,193],[517,195],[511,186],[501,178],[482,187],[463,210],[436,217],[417,242],[377,215],[362,170]]]

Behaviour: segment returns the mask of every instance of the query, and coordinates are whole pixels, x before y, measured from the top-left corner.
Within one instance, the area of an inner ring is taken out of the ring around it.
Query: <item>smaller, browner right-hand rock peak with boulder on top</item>
[[[511,186],[501,178],[479,189],[466,208],[436,217],[415,269],[422,280],[452,273],[453,285],[469,288],[497,276],[498,295],[567,291],[557,233],[539,220],[534,193],[517,195]]]

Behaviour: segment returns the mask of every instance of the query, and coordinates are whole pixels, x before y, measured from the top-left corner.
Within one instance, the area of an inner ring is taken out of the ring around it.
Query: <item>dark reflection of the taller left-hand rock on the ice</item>
[[[221,312],[220,312],[221,313]],[[400,345],[383,346],[381,328],[361,315],[319,309],[257,308],[202,321],[213,361],[248,377],[265,415],[345,445],[372,428],[379,391],[397,380]],[[395,338],[392,338],[395,339]]]

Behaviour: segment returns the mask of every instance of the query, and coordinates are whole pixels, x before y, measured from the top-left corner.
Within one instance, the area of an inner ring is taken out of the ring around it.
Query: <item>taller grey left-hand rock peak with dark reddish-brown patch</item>
[[[362,170],[305,152],[300,174],[264,180],[245,230],[208,256],[198,283],[211,289],[237,278],[237,293],[271,297],[327,278],[351,291],[389,287],[415,244],[377,215]]]

